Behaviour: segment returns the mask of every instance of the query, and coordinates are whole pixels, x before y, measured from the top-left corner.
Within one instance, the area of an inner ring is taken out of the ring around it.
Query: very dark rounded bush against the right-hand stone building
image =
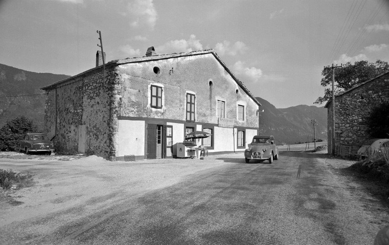
[[[368,120],[368,132],[372,138],[389,137],[389,102],[375,107]]]

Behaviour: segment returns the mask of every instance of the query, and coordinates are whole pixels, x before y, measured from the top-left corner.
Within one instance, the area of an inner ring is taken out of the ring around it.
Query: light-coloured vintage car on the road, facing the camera
[[[256,135],[248,144],[248,149],[244,151],[244,159],[246,163],[250,160],[269,160],[269,163],[273,162],[273,159],[278,160],[278,147],[273,136],[269,135]]]

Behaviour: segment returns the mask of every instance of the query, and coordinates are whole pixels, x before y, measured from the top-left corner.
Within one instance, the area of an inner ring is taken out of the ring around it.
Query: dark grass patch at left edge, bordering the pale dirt
[[[11,190],[33,185],[33,178],[28,174],[17,174],[11,169],[0,169],[0,208],[4,208],[7,203],[13,206],[22,204],[10,195]]]

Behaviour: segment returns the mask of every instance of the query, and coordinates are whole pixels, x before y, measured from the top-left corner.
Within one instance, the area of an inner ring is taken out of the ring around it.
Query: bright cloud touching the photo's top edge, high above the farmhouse
[[[143,24],[151,27],[155,26],[157,12],[152,0],[133,0],[128,3],[128,16],[131,18],[131,27],[140,27]]]

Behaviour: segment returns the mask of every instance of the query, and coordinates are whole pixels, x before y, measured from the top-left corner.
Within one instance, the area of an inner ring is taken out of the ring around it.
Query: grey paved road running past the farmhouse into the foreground
[[[54,232],[34,237],[34,229],[55,219],[50,215],[33,219],[34,229],[26,224],[24,229],[37,244],[373,243],[375,230],[352,184],[334,174],[320,155],[282,152],[273,164],[224,156],[214,161],[227,164],[169,187],[112,193],[120,195],[115,205],[57,213],[84,215]]]

